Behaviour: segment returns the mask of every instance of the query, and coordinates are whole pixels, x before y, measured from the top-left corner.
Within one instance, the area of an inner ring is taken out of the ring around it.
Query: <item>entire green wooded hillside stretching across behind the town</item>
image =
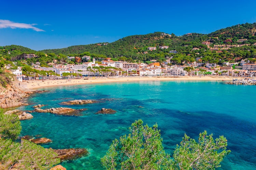
[[[54,59],[59,62],[67,62],[66,56],[84,56],[90,55],[95,58],[116,58],[116,60],[128,62],[146,62],[158,60],[166,61],[172,58],[172,64],[185,64],[193,62],[197,57],[203,57],[203,62],[222,64],[227,61],[234,61],[234,58],[255,58],[256,46],[232,47],[223,50],[222,53],[210,51],[202,44],[202,41],[210,41],[210,47],[215,44],[224,44],[226,39],[231,39],[228,44],[249,44],[256,43],[256,23],[245,23],[236,26],[220,29],[210,34],[189,33],[183,36],[167,34],[163,32],[154,32],[146,35],[132,35],[121,38],[113,43],[97,43],[89,45],[71,46],[62,49],[48,49],[34,51],[22,46],[0,47],[0,57],[3,56],[8,61],[19,61],[23,59],[24,53],[33,53],[38,57],[32,58],[27,62],[29,64],[40,62],[40,65],[46,66]],[[246,39],[239,42],[238,39]],[[168,49],[161,49],[159,46],[169,46]],[[156,50],[148,50],[148,47],[156,47]],[[196,50],[193,48],[197,48]],[[177,53],[170,53],[176,50]],[[45,56],[47,54],[47,56]],[[57,57],[58,56],[58,57]],[[126,57],[126,58],[125,58]],[[74,62],[74,61],[73,61]]]

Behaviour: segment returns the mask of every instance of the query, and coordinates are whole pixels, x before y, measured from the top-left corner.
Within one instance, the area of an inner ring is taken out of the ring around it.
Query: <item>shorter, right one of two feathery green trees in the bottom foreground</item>
[[[177,145],[173,158],[175,169],[214,169],[230,153],[226,150],[227,139],[219,136],[215,140],[207,132],[199,134],[198,143],[185,134],[180,146]],[[221,150],[221,151],[220,151]]]

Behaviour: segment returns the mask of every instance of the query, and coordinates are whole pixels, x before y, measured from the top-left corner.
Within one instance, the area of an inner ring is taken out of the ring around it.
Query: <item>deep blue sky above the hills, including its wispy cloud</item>
[[[1,2],[0,46],[33,50],[113,42],[153,32],[208,34],[256,22],[255,0]]]

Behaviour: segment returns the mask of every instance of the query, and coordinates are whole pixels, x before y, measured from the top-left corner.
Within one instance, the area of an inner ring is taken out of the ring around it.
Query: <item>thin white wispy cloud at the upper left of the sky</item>
[[[1,28],[24,28],[24,29],[33,29],[34,31],[44,31],[39,28],[33,27],[36,24],[27,24],[27,23],[17,23],[17,22],[12,22],[10,20],[3,20],[0,19],[0,29]]]

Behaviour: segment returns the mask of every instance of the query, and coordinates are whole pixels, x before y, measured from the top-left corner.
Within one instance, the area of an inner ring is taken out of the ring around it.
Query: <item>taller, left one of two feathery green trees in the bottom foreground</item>
[[[171,159],[162,147],[157,124],[153,128],[142,120],[132,123],[128,136],[115,139],[101,163],[106,169],[167,169]]]

